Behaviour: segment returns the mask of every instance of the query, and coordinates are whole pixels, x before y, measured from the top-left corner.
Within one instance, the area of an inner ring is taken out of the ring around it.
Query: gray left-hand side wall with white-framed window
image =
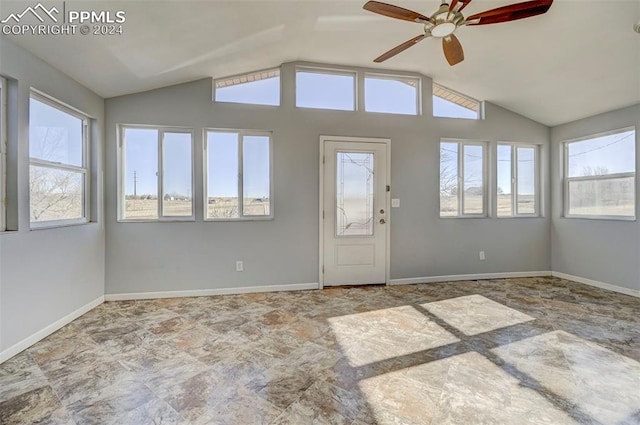
[[[101,219],[98,182],[104,100],[4,38],[0,38],[0,74],[9,79],[10,89],[8,225],[13,229],[0,233],[0,351],[4,351],[104,294],[101,224],[29,229],[30,88],[96,118],[94,220]]]

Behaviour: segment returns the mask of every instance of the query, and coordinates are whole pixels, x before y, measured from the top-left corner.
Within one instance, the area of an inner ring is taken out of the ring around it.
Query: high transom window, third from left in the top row
[[[366,74],[364,109],[367,112],[418,115],[420,80],[414,77],[391,77]]]

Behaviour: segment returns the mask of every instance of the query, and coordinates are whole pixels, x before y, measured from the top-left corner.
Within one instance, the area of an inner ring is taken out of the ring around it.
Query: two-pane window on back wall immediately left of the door
[[[205,218],[272,217],[271,133],[207,130]]]

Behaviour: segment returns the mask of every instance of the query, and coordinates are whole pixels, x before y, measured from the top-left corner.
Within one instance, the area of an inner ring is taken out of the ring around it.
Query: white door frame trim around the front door
[[[380,143],[384,144],[387,150],[387,178],[386,185],[391,187],[391,139],[378,137],[347,137],[347,136],[320,136],[319,165],[319,209],[318,209],[318,237],[319,237],[319,261],[318,261],[318,288],[324,288],[324,145],[325,142],[348,142],[348,143]],[[391,280],[391,191],[385,191],[384,208],[387,211],[387,225],[385,226],[385,284],[389,285]]]

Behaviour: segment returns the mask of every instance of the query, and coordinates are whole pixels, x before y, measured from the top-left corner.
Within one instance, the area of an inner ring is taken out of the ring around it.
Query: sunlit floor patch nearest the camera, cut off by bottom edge
[[[576,423],[477,352],[364,379],[359,388],[379,425]]]

